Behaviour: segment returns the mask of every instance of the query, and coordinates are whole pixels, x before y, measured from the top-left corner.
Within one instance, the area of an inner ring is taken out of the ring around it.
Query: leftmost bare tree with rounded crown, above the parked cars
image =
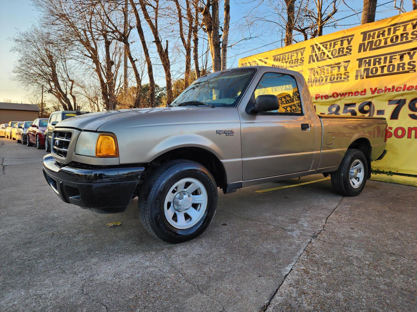
[[[13,41],[12,51],[18,54],[13,79],[27,89],[45,87],[64,110],[77,109],[75,80],[68,64],[68,51],[59,44],[59,39],[53,37],[51,32],[33,26],[28,31],[18,32]]]

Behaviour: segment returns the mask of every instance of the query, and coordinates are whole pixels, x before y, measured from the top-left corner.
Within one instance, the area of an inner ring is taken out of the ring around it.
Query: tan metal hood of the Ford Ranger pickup
[[[121,109],[74,116],[60,121],[55,128],[76,128],[81,130],[113,131],[112,128],[132,128],[155,124],[171,124],[181,121],[220,121],[224,110],[234,108],[211,107],[155,107],[142,109]],[[230,116],[229,116],[230,118]],[[239,117],[236,114],[236,119]],[[229,120],[230,121],[230,120]]]

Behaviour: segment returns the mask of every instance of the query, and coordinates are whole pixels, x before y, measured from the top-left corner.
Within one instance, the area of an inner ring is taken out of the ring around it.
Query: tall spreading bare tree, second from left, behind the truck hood
[[[106,109],[116,108],[117,77],[122,49],[113,40],[94,0],[34,0],[44,22],[60,32],[64,43],[72,42],[74,57],[92,68],[98,78]]]

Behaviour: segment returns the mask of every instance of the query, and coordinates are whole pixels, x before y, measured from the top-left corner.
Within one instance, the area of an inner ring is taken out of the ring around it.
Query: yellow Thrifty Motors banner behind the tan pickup
[[[389,181],[417,185],[417,178],[404,177],[417,175],[416,61],[414,10],[245,57],[239,66],[302,73],[317,114],[387,118],[388,153],[372,169],[388,172]]]

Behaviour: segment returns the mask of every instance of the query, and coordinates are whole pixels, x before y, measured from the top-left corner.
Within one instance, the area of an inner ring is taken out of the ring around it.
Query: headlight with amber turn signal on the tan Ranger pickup
[[[92,157],[119,157],[116,136],[83,131],[78,136],[75,154]]]

